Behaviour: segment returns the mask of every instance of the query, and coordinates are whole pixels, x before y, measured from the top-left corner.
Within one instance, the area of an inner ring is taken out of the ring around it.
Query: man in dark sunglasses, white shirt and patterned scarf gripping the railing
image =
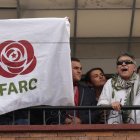
[[[120,55],[116,61],[116,69],[117,74],[104,85],[98,105],[112,106],[113,110],[110,110],[107,117],[108,124],[135,123],[134,111],[121,110],[122,106],[140,103],[140,99],[137,99],[140,93],[140,80],[136,74],[135,57],[127,53]]]

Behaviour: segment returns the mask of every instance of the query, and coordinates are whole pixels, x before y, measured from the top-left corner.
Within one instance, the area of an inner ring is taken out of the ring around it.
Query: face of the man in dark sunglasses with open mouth
[[[117,72],[124,80],[129,80],[134,71],[136,71],[136,65],[133,63],[132,58],[129,56],[119,58]]]

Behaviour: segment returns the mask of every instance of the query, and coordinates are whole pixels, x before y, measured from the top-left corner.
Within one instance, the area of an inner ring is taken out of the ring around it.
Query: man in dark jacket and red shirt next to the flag
[[[96,97],[94,90],[86,85],[81,85],[79,81],[82,76],[82,66],[80,60],[77,58],[71,58],[72,76],[73,76],[73,88],[74,88],[74,101],[75,106],[95,106]],[[91,123],[96,123],[98,119],[98,112],[91,112]],[[69,112],[65,119],[66,124],[81,124],[89,123],[88,110],[76,111],[76,116],[73,116],[72,112]]]

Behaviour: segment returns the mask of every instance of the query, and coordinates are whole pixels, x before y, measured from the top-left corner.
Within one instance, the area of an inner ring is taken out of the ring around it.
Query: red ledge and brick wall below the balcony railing
[[[2,127],[0,126],[0,140],[140,140],[139,125],[129,128],[121,127],[121,129],[118,129],[118,126],[116,129],[104,126],[104,129],[101,127],[100,130],[97,128],[98,126],[95,128],[94,125],[90,126],[93,128],[88,130],[84,130],[83,126],[79,126],[82,128],[81,130],[72,130],[72,127],[75,129],[74,126],[67,126],[70,130],[62,130],[62,128],[58,130],[57,126],[56,129],[54,129],[55,126],[52,127],[53,129],[50,129],[50,126],[29,128],[28,126],[18,126],[16,129],[10,126],[11,130],[9,130],[7,126],[6,131],[6,127],[3,127],[4,129]]]

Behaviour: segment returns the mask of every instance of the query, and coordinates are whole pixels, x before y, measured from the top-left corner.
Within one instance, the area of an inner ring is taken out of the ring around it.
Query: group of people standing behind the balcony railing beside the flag
[[[102,68],[92,68],[84,75],[84,80],[82,79],[81,82],[83,74],[80,60],[71,58],[71,67],[75,106],[111,106],[112,110],[107,111],[106,115],[108,124],[140,123],[139,110],[136,112],[133,110],[122,110],[122,106],[140,104],[140,66],[137,68],[134,56],[128,53],[118,56],[116,60],[116,74],[111,78],[106,77]],[[23,117],[22,113],[24,114],[23,116],[27,117],[27,111],[22,110],[17,114],[19,119],[17,118],[16,124],[28,123],[27,118]],[[36,111],[36,114],[39,113],[41,112]],[[46,110],[47,113],[48,111]],[[20,116],[22,116],[22,119]],[[103,117],[103,111],[91,110],[92,124],[104,123],[102,121]],[[34,118],[37,118],[37,115],[33,115],[33,120]],[[9,114],[0,116],[0,124],[11,124],[11,122]],[[61,122],[63,124],[89,123],[88,110],[76,111],[76,115],[72,111],[64,111]],[[56,121],[55,124],[57,123]],[[36,124],[36,121],[32,124]],[[49,124],[53,123],[50,122]]]

